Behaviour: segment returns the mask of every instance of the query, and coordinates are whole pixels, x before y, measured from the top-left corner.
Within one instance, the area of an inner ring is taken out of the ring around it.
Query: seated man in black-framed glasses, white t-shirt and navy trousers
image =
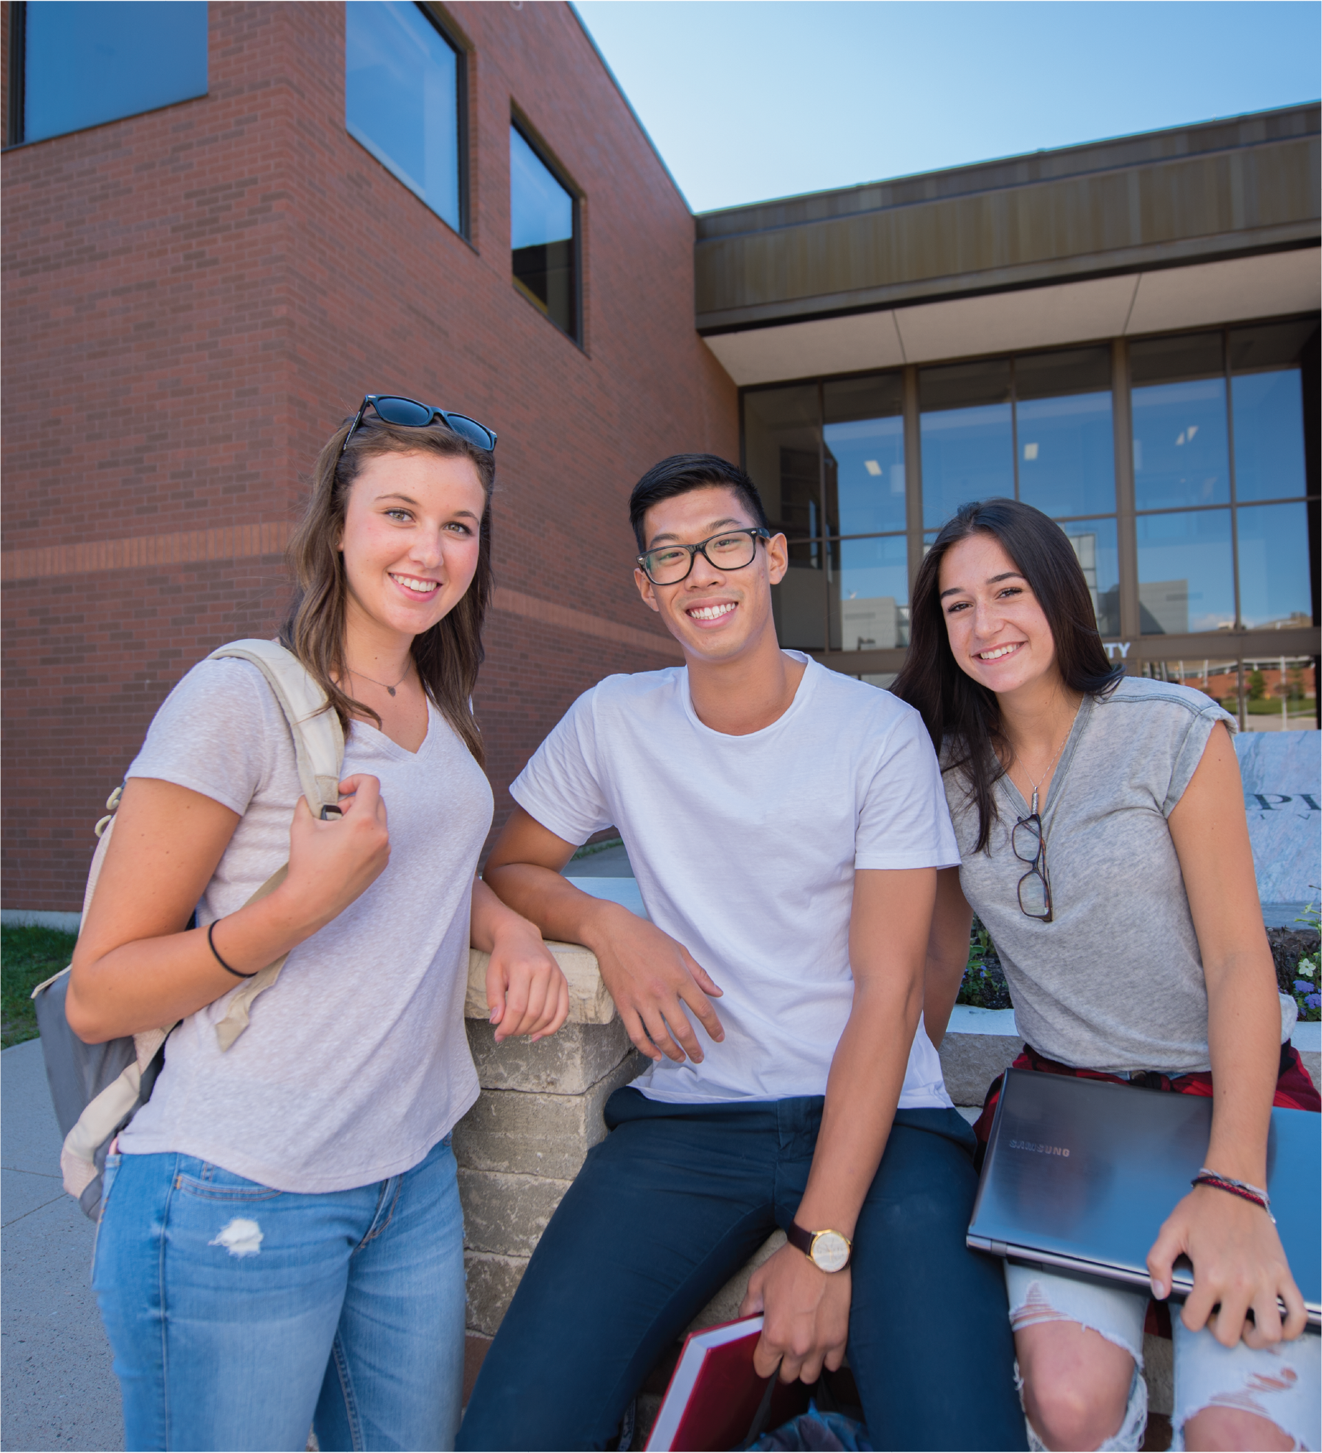
[[[922,722],[780,649],[789,552],[742,471],[665,459],[630,520],[686,664],[574,703],[485,878],[593,949],[652,1064],[607,1101],[458,1447],[615,1447],[648,1370],[780,1226],[742,1308],[766,1314],[760,1373],[814,1382],[848,1347],[888,1447],[1023,1449],[999,1266],[965,1247],[973,1138],[921,1020],[937,869],[959,862]],[[651,921],[559,876],[612,824]]]

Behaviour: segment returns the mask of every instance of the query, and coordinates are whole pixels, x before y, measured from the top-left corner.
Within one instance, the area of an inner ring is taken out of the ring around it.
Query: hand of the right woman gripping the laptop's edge
[[[1281,1238],[1261,1206],[1213,1186],[1196,1186],[1148,1252],[1155,1298],[1169,1296],[1171,1268],[1180,1255],[1194,1264],[1194,1289],[1180,1314],[1191,1332],[1207,1325],[1223,1347],[1233,1347],[1241,1337],[1249,1347],[1268,1347],[1283,1337],[1299,1337],[1307,1325]],[[1284,1325],[1277,1298],[1286,1303]]]

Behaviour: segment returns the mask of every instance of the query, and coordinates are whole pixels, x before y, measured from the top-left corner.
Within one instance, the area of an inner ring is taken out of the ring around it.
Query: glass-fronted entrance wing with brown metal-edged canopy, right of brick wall
[[[1319,177],[1309,106],[699,218],[786,644],[883,683],[934,532],[1008,495],[1061,522],[1114,660],[1229,671],[1244,718],[1268,657],[1313,695]]]

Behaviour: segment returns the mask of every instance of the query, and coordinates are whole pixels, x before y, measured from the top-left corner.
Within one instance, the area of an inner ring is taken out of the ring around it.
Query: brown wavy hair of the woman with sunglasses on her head
[[[491,488],[495,459],[439,420],[426,429],[404,429],[369,414],[340,453],[352,418],[330,436],[317,456],[312,497],[295,529],[286,552],[295,577],[293,599],[280,626],[280,644],[292,651],[325,692],[328,708],[349,731],[353,716],[381,716],[363,702],[340,690],[349,671],[344,660],[344,602],[349,584],[344,556],[337,542],[343,536],[349,493],[363,461],[388,453],[429,453],[442,459],[469,459],[478,471],[485,504],[478,530],[478,568],[463,597],[434,626],[413,639],[413,663],[423,690],[459,734],[459,740],[485,764],[482,734],[472,713],[472,692],[482,664],[482,623],[491,606]]]

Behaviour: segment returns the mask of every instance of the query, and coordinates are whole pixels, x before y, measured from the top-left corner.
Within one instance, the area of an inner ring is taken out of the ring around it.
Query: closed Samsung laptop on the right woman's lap
[[[1010,1069],[969,1245],[1148,1286],[1148,1251],[1207,1154],[1212,1100]],[[1273,1110],[1267,1191],[1309,1322],[1322,1327],[1322,1114]],[[1174,1296],[1193,1287],[1175,1266]]]

